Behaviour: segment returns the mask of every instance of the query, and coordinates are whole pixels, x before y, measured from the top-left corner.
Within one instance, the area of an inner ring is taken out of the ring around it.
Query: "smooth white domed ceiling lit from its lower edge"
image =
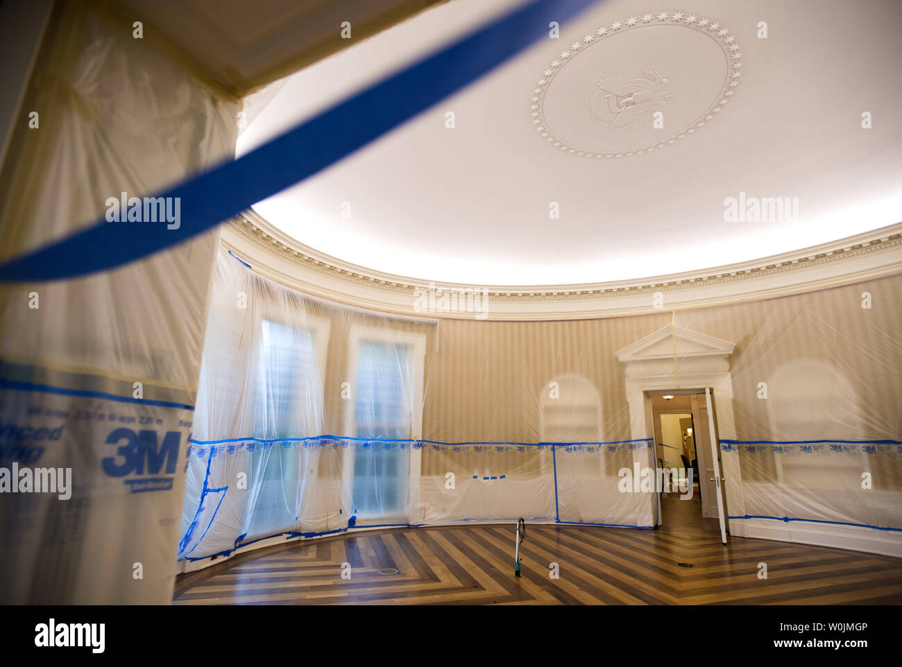
[[[251,123],[238,154],[516,4],[452,0],[282,79],[248,99]],[[676,11],[721,23],[736,40],[676,28],[671,16],[667,29],[657,20],[642,27],[643,14]],[[633,16],[629,34],[584,42],[618,21],[625,29]],[[762,21],[767,39],[756,36]],[[897,0],[603,2],[563,25],[559,39],[540,40],[254,208],[338,259],[470,285],[657,276],[870,231],[902,219],[900,28]],[[574,50],[574,42],[585,47]],[[730,59],[731,43],[741,44],[741,59]],[[552,69],[565,50],[566,64]],[[737,60],[741,85],[729,87]],[[652,84],[669,99],[615,120],[630,90]],[[734,95],[712,113],[722,85]],[[532,123],[536,87],[538,112],[561,146]],[[608,91],[614,106],[606,105]],[[663,130],[651,127],[655,109],[664,113]],[[446,112],[456,116],[454,130],[446,129]],[[870,130],[861,128],[863,112],[872,116]],[[673,137],[686,127],[694,132]],[[593,155],[621,151],[621,158],[580,157],[569,144]],[[641,154],[627,154],[638,148]],[[725,222],[724,199],[740,192],[797,197],[798,220]],[[345,202],[350,219],[342,216]],[[552,202],[559,219],[549,218]]]

